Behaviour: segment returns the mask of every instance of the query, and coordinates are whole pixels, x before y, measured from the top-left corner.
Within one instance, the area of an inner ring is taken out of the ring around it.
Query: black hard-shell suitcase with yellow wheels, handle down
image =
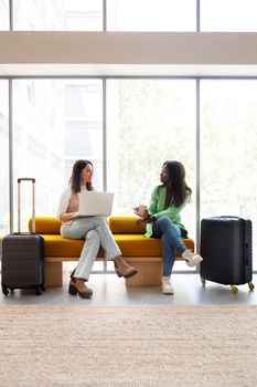
[[[238,217],[212,217],[201,221],[200,266],[202,283],[205,280],[235,285],[248,283],[254,290],[251,258],[251,221]]]

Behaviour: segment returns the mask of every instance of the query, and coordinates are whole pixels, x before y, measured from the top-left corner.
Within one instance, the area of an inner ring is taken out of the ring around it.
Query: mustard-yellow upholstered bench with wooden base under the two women
[[[138,269],[138,274],[126,280],[130,286],[160,285],[162,276],[161,241],[156,238],[144,238],[144,226],[136,223],[135,216],[111,216],[108,218],[110,230],[118,243],[124,258]],[[32,222],[29,222],[31,230]],[[77,261],[84,240],[64,239],[60,234],[61,221],[55,217],[36,217],[35,230],[45,241],[45,285],[62,286],[65,261]],[[183,242],[194,251],[192,239]],[[104,254],[99,250],[98,258]],[[176,260],[180,260],[180,255]]]

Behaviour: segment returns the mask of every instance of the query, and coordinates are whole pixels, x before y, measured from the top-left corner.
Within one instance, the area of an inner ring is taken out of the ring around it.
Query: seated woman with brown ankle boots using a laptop
[[[61,236],[67,239],[85,239],[78,264],[71,274],[68,292],[89,299],[92,289],[87,287],[93,264],[101,245],[107,260],[114,260],[118,276],[128,279],[137,274],[137,270],[130,266],[121,255],[108,227],[105,216],[82,216],[78,212],[79,198],[84,191],[94,191],[93,164],[89,160],[77,160],[73,166],[69,186],[64,190],[58,206],[58,218],[62,221]]]

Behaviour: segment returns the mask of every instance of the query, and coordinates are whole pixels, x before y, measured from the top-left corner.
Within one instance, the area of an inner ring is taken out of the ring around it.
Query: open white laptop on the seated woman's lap
[[[110,192],[81,191],[77,217],[110,216],[114,196]]]

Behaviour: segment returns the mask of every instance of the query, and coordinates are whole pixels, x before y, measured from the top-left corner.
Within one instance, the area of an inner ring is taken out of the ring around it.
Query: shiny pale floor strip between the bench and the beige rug
[[[257,304],[257,274],[248,285],[238,286],[237,294],[229,286],[200,282],[199,274],[174,274],[175,293],[163,295],[159,287],[126,287],[125,280],[116,274],[92,274],[88,285],[93,289],[92,300],[82,300],[67,293],[68,269],[64,270],[63,287],[47,289],[36,296],[31,291],[14,291],[8,296],[0,294],[0,304],[63,304],[63,305],[204,305],[204,304]]]

